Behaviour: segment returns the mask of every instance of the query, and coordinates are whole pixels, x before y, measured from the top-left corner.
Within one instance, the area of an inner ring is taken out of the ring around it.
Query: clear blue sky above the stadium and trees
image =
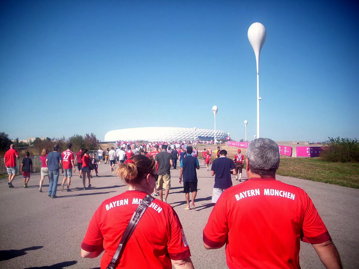
[[[266,27],[261,137],[359,137],[354,1],[1,1],[0,131],[132,127],[256,133],[247,30]]]

